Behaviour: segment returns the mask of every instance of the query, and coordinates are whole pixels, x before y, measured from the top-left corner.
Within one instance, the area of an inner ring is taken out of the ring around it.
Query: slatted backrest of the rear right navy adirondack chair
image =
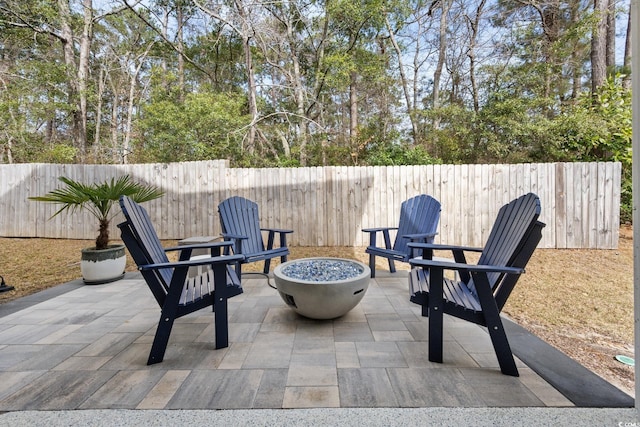
[[[421,194],[405,200],[400,205],[400,222],[393,249],[410,253],[411,241],[403,236],[409,234],[436,233],[440,221],[440,202],[433,197]]]

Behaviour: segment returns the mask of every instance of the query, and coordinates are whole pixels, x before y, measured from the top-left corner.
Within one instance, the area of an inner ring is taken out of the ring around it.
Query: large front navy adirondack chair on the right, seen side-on
[[[429,317],[429,360],[442,363],[443,313],[486,326],[503,374],[518,376],[511,347],[500,318],[511,291],[524,273],[545,224],[538,221],[540,199],[525,194],[502,206],[484,248],[410,244],[422,250],[411,259],[409,287],[411,301],[422,306]],[[432,260],[434,250],[447,250],[454,259]],[[475,265],[465,252],[481,252]],[[444,271],[455,271],[455,279]]]

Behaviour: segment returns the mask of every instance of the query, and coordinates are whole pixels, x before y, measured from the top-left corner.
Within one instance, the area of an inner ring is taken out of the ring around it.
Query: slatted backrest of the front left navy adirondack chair
[[[126,196],[120,198],[120,207],[127,221],[125,224],[120,224],[119,227],[121,229],[127,227],[127,231],[132,234],[133,240],[125,243],[127,243],[127,248],[135,263],[141,266],[169,262],[160,238],[153,228],[147,210]],[[124,231],[125,230],[123,230],[123,232]],[[124,238],[125,235],[123,234],[123,239]],[[138,242],[140,242],[140,244]],[[168,292],[173,274],[172,269],[163,268],[145,273],[155,276],[157,281],[162,285],[164,294]],[[156,295],[157,290],[152,289],[152,291],[154,295]],[[157,298],[158,295],[156,295],[156,299]]]

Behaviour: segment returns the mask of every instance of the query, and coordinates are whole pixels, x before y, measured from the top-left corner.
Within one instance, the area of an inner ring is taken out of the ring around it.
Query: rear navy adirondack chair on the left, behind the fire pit
[[[243,256],[243,259],[236,264],[238,275],[242,273],[242,264],[264,261],[263,272],[268,274],[272,258],[280,257],[281,262],[287,261],[287,255],[289,255],[287,234],[293,233],[293,230],[260,228],[257,203],[244,197],[230,197],[218,205],[218,213],[222,225],[222,237],[225,241],[232,242],[231,248],[234,254]],[[263,231],[268,232],[266,246],[262,236]],[[280,237],[278,247],[274,247],[276,233]],[[228,251],[228,249],[225,250]]]

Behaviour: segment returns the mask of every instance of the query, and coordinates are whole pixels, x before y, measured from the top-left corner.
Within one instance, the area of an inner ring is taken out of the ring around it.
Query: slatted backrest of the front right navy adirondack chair
[[[478,265],[514,266],[515,257],[521,252],[522,246],[527,243],[527,236],[536,226],[540,210],[540,199],[533,193],[525,194],[502,206],[480,255]],[[489,273],[487,278],[493,288],[500,283],[502,274]],[[467,285],[475,294],[473,279]]]

